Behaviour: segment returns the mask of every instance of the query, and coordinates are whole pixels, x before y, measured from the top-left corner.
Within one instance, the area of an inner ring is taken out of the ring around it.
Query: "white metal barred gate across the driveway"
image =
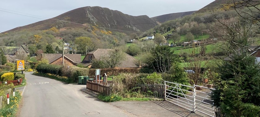
[[[184,87],[189,90],[185,90]],[[199,87],[206,90],[206,92],[196,89]],[[190,110],[193,113],[200,112],[215,117],[213,100],[210,100],[211,90],[215,89],[198,85],[187,86],[164,81],[164,98],[166,101]]]

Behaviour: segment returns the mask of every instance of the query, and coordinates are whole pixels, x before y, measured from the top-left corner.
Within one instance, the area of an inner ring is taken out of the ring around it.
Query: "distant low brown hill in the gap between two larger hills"
[[[151,19],[153,19],[154,21],[157,21],[157,22],[165,22],[165,21],[169,21],[169,20],[173,20],[173,19],[177,19],[177,18],[183,17],[185,15],[191,15],[194,12],[196,12],[196,11],[171,13],[171,14],[165,14],[165,15],[152,17]]]

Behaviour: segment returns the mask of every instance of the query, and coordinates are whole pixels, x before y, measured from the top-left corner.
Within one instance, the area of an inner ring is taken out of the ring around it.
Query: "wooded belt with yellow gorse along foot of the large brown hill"
[[[37,50],[46,51],[46,46],[51,45],[55,53],[60,53],[62,50],[62,39],[65,43],[69,43],[72,49],[76,49],[77,54],[84,54],[97,48],[110,48],[122,45],[130,41],[129,36],[124,33],[110,32],[104,30],[95,30],[89,32],[87,29],[71,28],[71,29],[57,29],[50,28],[49,30],[24,30],[17,32],[9,32],[0,34],[0,46],[21,46],[26,42],[30,53],[36,53]],[[10,37],[9,37],[10,36]],[[77,38],[88,38],[86,43],[77,42]],[[79,46],[79,44],[85,44]],[[87,50],[86,50],[87,46]]]

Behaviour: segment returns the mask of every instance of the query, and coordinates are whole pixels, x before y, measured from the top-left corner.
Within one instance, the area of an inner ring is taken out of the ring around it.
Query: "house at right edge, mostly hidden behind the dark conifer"
[[[237,49],[237,54],[240,54],[241,49]],[[245,50],[248,51],[250,56],[255,57],[255,63],[260,64],[260,46],[248,46],[248,48]],[[228,57],[226,57],[224,60],[230,61],[232,60],[234,54],[230,54]]]

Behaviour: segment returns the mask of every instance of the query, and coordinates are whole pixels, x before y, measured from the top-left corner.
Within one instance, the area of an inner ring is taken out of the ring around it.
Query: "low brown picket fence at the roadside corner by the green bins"
[[[100,82],[103,82],[103,80],[100,80]],[[91,81],[87,81],[87,89],[94,92],[103,93],[104,95],[110,95],[111,93],[111,88],[109,87],[109,85],[103,85],[101,83]]]

